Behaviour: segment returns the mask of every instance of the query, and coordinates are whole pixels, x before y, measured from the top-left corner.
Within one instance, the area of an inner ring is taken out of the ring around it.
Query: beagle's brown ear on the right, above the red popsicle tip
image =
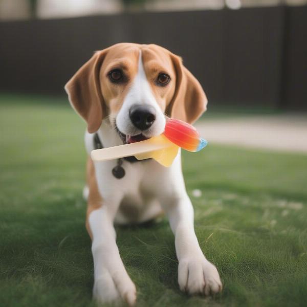
[[[182,59],[170,54],[176,71],[176,90],[167,108],[173,118],[193,123],[207,109],[207,97],[198,80],[184,67]]]

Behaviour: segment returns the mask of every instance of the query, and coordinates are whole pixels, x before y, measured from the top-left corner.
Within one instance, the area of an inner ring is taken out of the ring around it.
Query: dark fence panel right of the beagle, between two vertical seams
[[[223,100],[279,103],[282,8],[226,11]]]

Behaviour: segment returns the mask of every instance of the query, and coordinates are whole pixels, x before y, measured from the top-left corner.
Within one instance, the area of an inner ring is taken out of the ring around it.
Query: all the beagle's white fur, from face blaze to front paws
[[[133,103],[148,103],[157,109],[159,116],[151,129],[152,135],[161,134],[164,130],[164,116],[145,79],[140,55],[139,72],[117,116],[117,125],[125,134],[134,134],[128,117],[128,109]],[[106,122],[101,124],[98,135],[104,147],[122,144],[116,131]],[[85,146],[88,153],[94,149],[93,134],[85,134]],[[169,168],[154,160],[138,163],[123,160],[126,174],[122,179],[112,175],[116,163],[95,163],[98,188],[103,197],[103,206],[94,210],[89,217],[93,234],[95,298],[102,302],[114,302],[121,298],[130,305],[135,303],[136,288],[120,258],[113,224],[144,222],[157,216],[162,209],[175,235],[181,290],[206,295],[220,291],[222,283],[218,272],[205,258],[194,232],[193,207],[184,185],[180,152]]]

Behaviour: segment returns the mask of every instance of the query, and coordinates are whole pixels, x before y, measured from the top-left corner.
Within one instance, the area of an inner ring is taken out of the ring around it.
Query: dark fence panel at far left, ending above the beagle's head
[[[124,40],[121,19],[102,16],[1,24],[1,89],[63,93],[65,82],[93,51]]]

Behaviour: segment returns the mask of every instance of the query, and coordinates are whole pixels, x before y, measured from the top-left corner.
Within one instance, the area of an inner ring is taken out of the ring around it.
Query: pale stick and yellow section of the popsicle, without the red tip
[[[168,167],[177,156],[178,149],[177,145],[160,135],[141,142],[95,149],[91,152],[91,158],[93,161],[108,161],[129,156],[135,156],[138,160],[153,158]]]

